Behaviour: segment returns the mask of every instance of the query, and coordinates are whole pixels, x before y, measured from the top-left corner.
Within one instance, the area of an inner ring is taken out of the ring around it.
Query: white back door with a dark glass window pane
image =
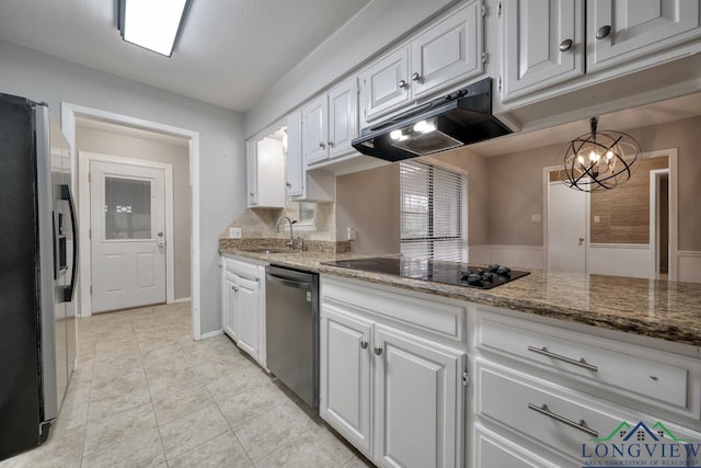
[[[165,171],[90,163],[92,311],[165,301]]]

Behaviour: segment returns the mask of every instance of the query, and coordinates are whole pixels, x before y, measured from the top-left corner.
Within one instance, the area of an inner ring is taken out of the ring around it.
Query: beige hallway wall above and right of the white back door
[[[191,297],[189,150],[165,141],[76,127],[76,150],[173,164],[174,297]]]

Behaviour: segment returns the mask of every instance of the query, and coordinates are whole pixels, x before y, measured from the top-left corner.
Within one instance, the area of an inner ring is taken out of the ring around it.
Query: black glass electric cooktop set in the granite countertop
[[[530,273],[510,270],[497,264],[474,266],[460,262],[411,258],[338,260],[323,264],[481,289],[491,289]]]

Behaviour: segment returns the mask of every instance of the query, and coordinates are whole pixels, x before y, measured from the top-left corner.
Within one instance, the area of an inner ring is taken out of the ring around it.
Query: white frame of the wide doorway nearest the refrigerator
[[[202,262],[199,232],[199,133],[186,128],[146,121],[114,112],[61,102],[61,129],[70,144],[71,189],[78,185],[78,155],[76,153],[76,117],[102,121],[111,124],[139,128],[160,134],[182,137],[189,141],[189,187],[191,187],[191,300],[193,339],[202,336]],[[80,297],[79,297],[80,299]],[[79,309],[81,303],[79,301]],[[210,335],[219,334],[210,333]],[[209,335],[209,334],[208,334]],[[207,338],[207,336],[205,336]]]

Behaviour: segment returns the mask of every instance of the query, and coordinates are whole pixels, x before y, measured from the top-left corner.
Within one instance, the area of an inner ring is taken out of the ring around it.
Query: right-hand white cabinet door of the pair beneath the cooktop
[[[464,353],[375,327],[376,458],[388,467],[461,467]]]

